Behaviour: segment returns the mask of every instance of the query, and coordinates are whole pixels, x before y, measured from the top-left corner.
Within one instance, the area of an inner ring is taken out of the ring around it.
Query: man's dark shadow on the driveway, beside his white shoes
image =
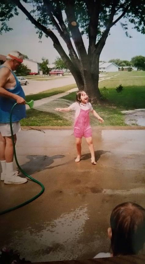
[[[28,174],[33,174],[48,169],[49,166],[54,163],[54,159],[61,159],[64,157],[65,155],[54,155],[51,157],[46,155],[28,155],[26,158],[29,159],[29,161],[21,165],[21,168]],[[61,165],[62,164],[56,166]]]

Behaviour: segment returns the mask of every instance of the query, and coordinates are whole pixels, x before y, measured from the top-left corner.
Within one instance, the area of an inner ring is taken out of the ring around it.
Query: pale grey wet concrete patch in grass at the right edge
[[[125,114],[125,123],[128,125],[145,126],[145,109],[121,111]]]

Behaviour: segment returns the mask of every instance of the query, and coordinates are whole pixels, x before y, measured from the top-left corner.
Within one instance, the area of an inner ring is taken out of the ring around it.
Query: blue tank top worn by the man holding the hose
[[[3,68],[3,67],[6,67],[6,66],[0,66],[0,68]],[[13,89],[6,89],[6,90],[12,94],[17,94],[20,97],[25,98],[24,91],[22,87],[20,86],[20,83],[16,75],[13,73],[13,71],[11,71],[11,73],[15,77],[16,85]],[[0,123],[9,123],[10,112],[11,112],[12,106],[15,103],[16,101],[14,99],[0,96]],[[20,121],[24,117],[26,117],[26,106],[17,104],[13,109],[12,122]]]

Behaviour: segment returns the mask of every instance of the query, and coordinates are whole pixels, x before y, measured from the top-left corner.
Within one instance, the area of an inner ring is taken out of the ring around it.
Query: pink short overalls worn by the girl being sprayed
[[[83,136],[91,137],[92,130],[90,127],[89,110],[80,109],[79,116],[76,117],[74,123],[74,136],[82,138]]]

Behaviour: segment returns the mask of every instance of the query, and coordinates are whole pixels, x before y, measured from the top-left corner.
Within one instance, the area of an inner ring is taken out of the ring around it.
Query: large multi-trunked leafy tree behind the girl
[[[78,88],[84,89],[92,102],[100,100],[99,56],[110,28],[124,18],[125,22],[121,25],[126,35],[127,21],[137,31],[145,33],[144,0],[1,0],[1,32],[11,30],[7,21],[18,15],[19,9],[38,29],[40,38],[43,33],[51,38],[54,48],[72,72]],[[53,29],[58,30],[68,52],[62,48]],[[83,34],[88,37],[87,50]]]

